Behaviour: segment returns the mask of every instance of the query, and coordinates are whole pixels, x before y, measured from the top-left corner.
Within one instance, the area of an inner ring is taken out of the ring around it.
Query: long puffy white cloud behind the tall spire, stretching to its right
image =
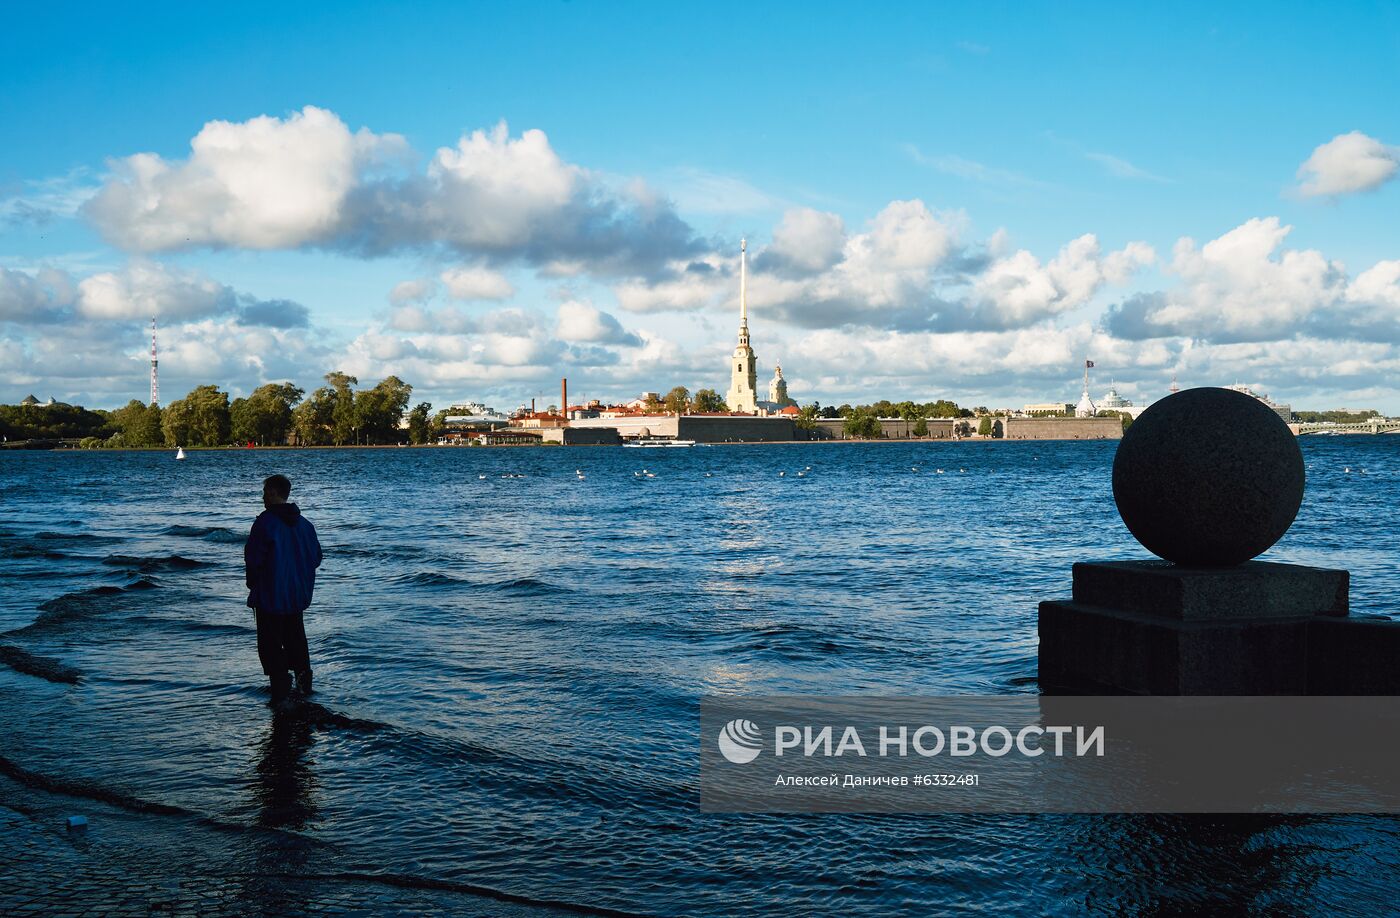
[[[788,211],[753,259],[750,311],[812,329],[1018,327],[1085,305],[1156,257],[1142,242],[1105,255],[1084,235],[1043,263],[1028,250],[1008,253],[1002,232],[984,246],[965,243],[965,232],[960,213],[935,214],[920,200],[892,202],[855,234],[834,214]],[[676,266],[666,281],[615,292],[631,312],[736,312],[736,253],[711,255]]]

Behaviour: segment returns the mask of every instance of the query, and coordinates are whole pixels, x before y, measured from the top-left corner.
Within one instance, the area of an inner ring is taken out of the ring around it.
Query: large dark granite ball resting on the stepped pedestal
[[[1298,438],[1267,404],[1231,389],[1186,389],[1123,434],[1113,500],[1152,554],[1232,567],[1282,539],[1305,477]]]

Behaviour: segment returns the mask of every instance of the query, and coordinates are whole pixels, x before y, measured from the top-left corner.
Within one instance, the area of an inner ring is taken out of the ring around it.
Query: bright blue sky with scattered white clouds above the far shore
[[[760,372],[804,402],[1072,400],[1092,357],[1141,402],[1400,411],[1396,60],[1397,4],[17,8],[0,400],[141,397],[153,308],[167,397],[336,367],[501,407],[722,392],[748,235]],[[216,122],[225,172],[192,154]],[[307,213],[237,185],[288,158],[349,172]]]

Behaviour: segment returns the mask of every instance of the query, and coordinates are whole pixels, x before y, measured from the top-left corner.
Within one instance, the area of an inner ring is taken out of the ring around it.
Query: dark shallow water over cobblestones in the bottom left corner
[[[83,814],[88,828],[69,830]],[[132,813],[0,775],[0,915],[578,914],[335,870],[295,833]]]

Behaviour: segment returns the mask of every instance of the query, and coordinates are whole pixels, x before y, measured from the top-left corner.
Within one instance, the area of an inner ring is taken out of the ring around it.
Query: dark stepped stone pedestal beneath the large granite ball
[[[1131,694],[1392,694],[1400,623],[1348,617],[1347,571],[1249,561],[1074,565],[1040,603],[1044,690]]]

